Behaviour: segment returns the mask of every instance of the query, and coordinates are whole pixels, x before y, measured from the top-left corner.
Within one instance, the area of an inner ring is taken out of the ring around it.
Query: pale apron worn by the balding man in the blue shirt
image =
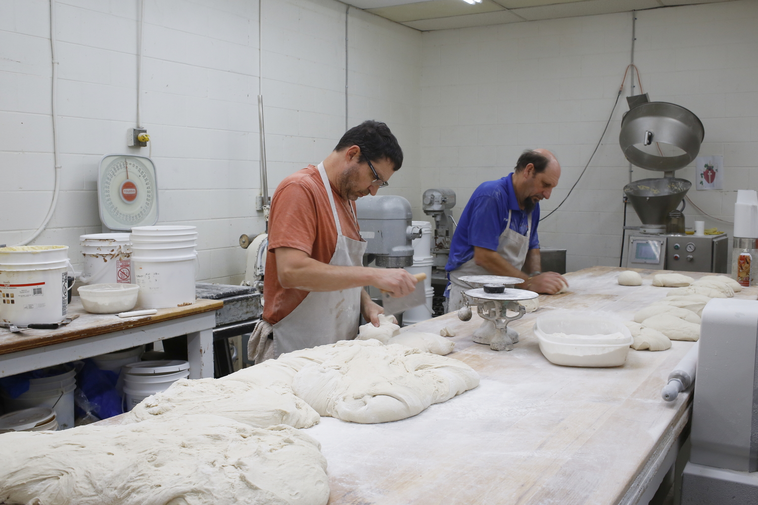
[[[506,223],[506,229],[500,234],[500,239],[497,242],[497,254],[503,257],[508,263],[511,263],[513,267],[521,270],[526,260],[526,254],[529,251],[529,235],[531,234],[531,212],[527,218],[526,235],[511,229],[511,210],[508,210],[508,223]],[[478,285],[469,285],[466,282],[460,280],[462,276],[491,276],[491,272],[488,272],[484,267],[480,267],[476,264],[474,258],[463,263],[460,267],[450,272],[450,298],[448,302],[447,311],[453,312],[464,306],[463,303],[463,291],[469,289],[478,288]]]

